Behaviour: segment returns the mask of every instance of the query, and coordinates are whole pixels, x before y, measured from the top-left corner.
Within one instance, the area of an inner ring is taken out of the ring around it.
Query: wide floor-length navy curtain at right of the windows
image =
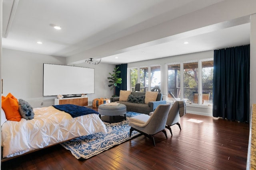
[[[213,66],[213,116],[249,121],[250,45],[214,50]]]

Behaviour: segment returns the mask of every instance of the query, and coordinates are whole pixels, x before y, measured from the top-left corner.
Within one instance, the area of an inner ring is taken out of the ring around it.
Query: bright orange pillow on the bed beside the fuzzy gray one
[[[20,121],[21,115],[18,100],[14,96],[9,94],[6,97],[2,96],[2,108],[7,120]]]

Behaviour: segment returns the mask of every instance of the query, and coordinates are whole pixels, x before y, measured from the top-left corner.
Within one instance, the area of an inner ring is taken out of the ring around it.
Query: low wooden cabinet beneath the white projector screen
[[[78,106],[88,106],[88,97],[54,99],[54,105],[74,104]]]

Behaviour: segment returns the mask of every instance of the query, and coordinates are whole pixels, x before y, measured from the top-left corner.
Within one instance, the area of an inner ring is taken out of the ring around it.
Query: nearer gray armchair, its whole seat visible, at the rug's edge
[[[168,117],[168,112],[170,109],[169,104],[160,104],[156,107],[154,113],[149,116],[146,114],[137,115],[129,119],[130,137],[132,131],[138,131],[151,139],[154,146],[156,146],[155,139],[153,135],[162,131],[167,139],[167,134],[165,131],[165,125]]]

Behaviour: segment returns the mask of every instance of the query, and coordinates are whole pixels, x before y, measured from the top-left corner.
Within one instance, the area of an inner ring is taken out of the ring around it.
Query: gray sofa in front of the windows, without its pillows
[[[133,96],[144,96],[145,92],[131,92]],[[137,113],[144,113],[149,115],[160,104],[166,104],[166,100],[162,100],[162,93],[158,93],[155,102],[149,102],[148,104],[131,103],[119,101],[119,97],[110,98],[110,102],[118,102],[126,105],[126,111],[133,111]]]

